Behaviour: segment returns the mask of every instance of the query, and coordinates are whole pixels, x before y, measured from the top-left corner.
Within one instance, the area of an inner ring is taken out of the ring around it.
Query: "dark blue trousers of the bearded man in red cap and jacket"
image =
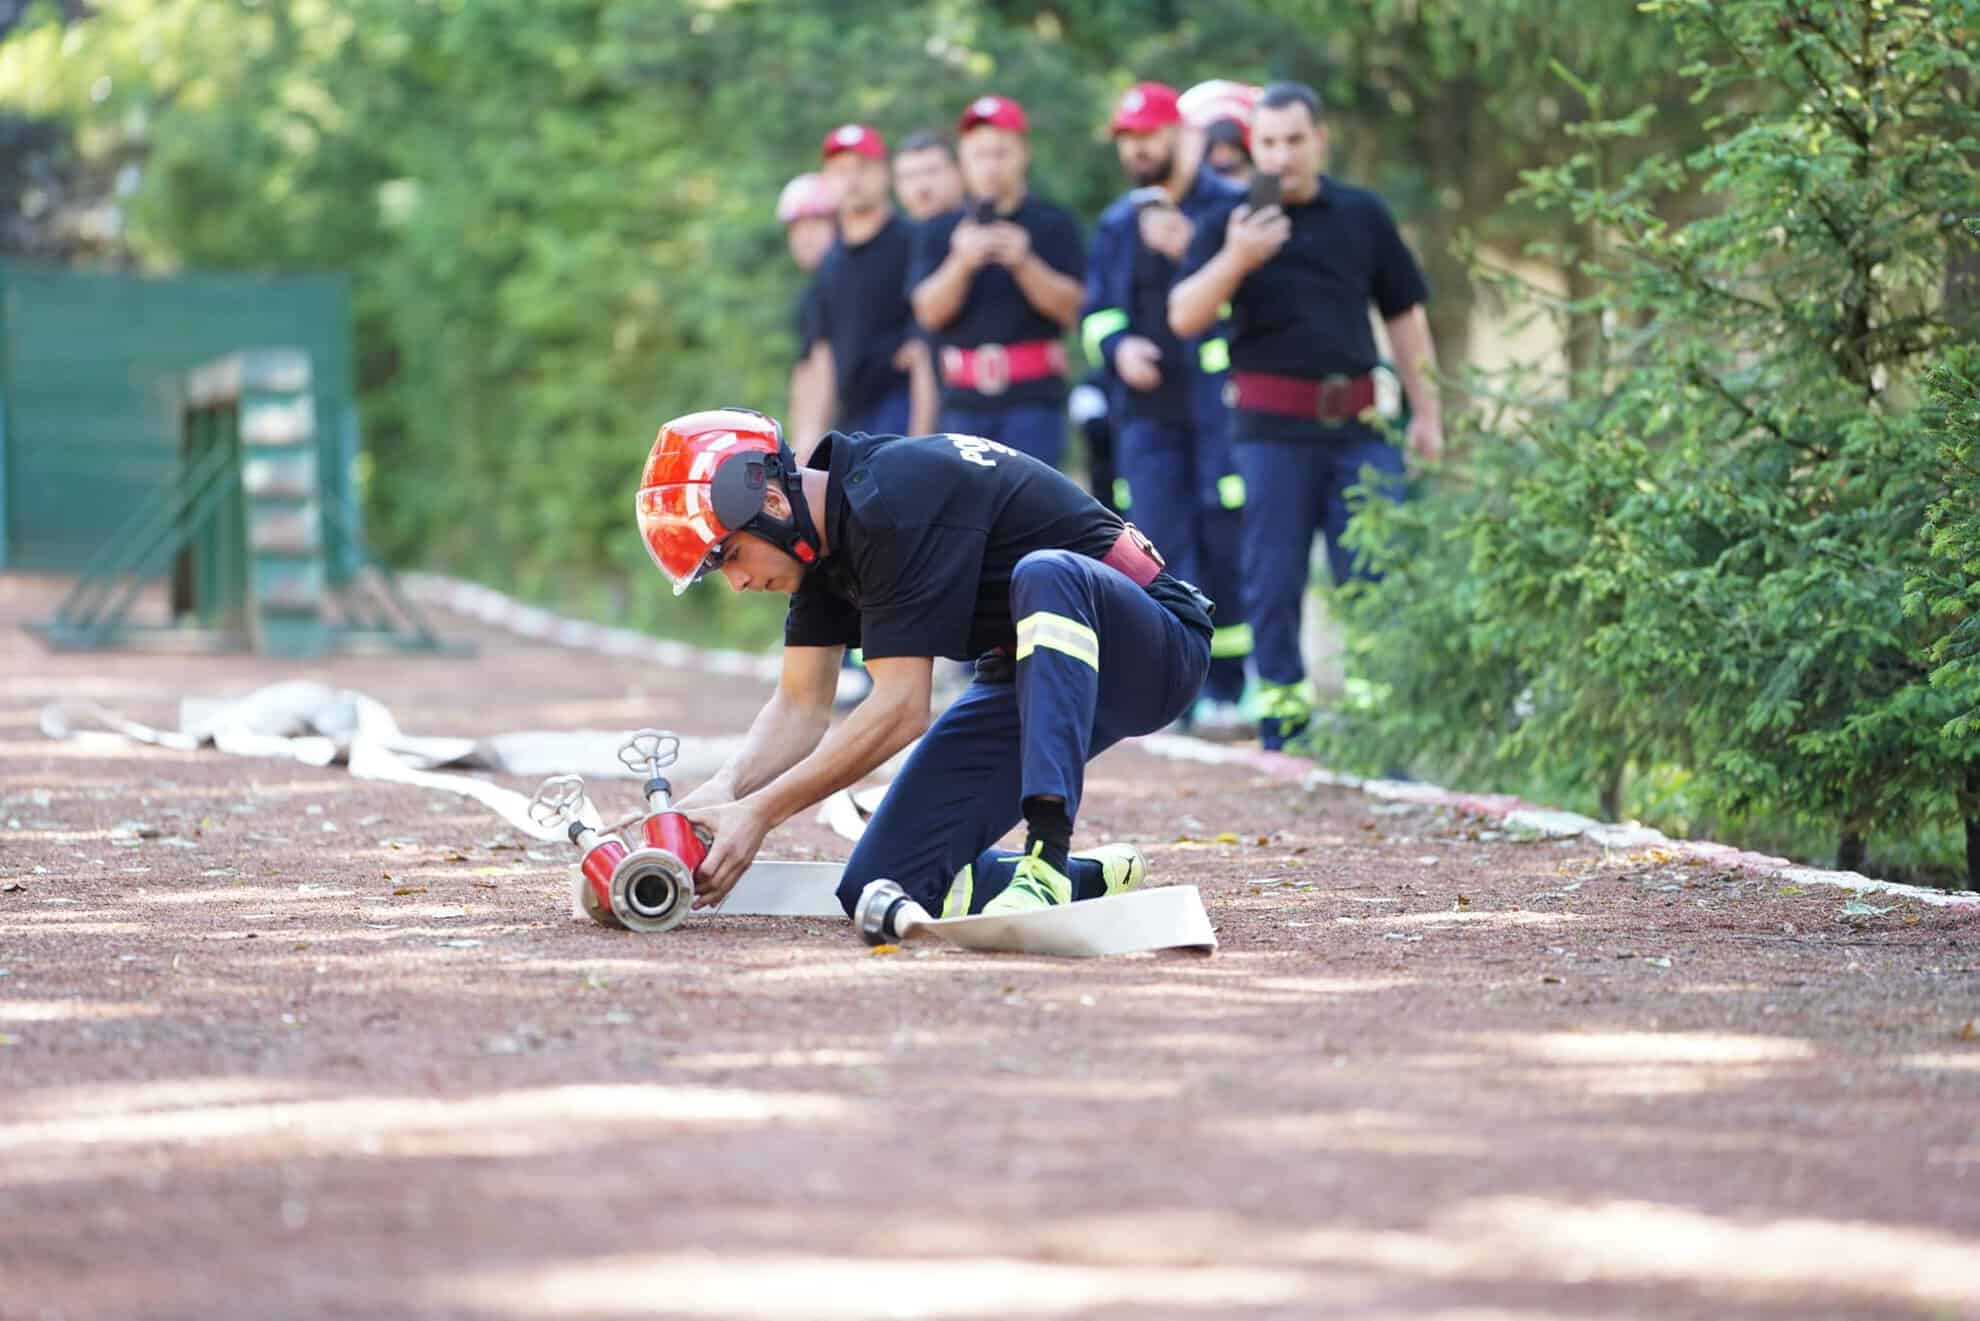
[[[1127,481],[1127,517],[1162,553],[1168,572],[1218,602],[1218,630],[1243,624],[1241,511],[1226,509],[1218,487],[1218,477],[1236,471],[1222,438],[1194,426],[1129,418],[1115,438],[1115,469]],[[1238,701],[1245,650],[1210,663],[1204,683],[1210,697]]]

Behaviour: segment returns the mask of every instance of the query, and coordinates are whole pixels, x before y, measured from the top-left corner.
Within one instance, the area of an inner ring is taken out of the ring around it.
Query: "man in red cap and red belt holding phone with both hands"
[[[1024,107],[978,97],[958,158],[974,198],[915,236],[915,319],[939,349],[940,430],[984,436],[1057,465],[1065,450],[1065,329],[1085,250],[1071,212],[1026,190]]]

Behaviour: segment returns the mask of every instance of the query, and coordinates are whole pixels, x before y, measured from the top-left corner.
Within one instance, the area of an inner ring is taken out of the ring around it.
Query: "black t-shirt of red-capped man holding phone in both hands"
[[[935,216],[915,232],[915,259],[907,273],[909,295],[913,295],[915,285],[933,275],[948,259],[948,240],[954,236],[956,226],[962,224],[962,210],[952,210],[946,216]],[[1083,281],[1087,277],[1087,250],[1079,236],[1079,222],[1073,220],[1071,212],[1041,198],[1026,196],[1018,210],[1002,216],[1002,220],[1024,226],[1026,234],[1032,236],[1032,252],[1045,265],[1069,279]],[[1018,287],[1018,279],[1004,265],[986,261],[970,281],[970,291],[962,299],[954,321],[931,335],[937,355],[935,366],[940,370],[940,351],[946,345],[960,349],[974,349],[976,345],[1024,345],[1038,339],[1061,339],[1065,327],[1032,307],[1032,301],[1024,297],[1024,289]],[[942,404],[946,408],[1012,408],[1016,404],[1061,408],[1065,404],[1065,378],[1041,376],[1040,380],[1024,380],[1012,384],[1002,394],[980,394],[944,384]]]

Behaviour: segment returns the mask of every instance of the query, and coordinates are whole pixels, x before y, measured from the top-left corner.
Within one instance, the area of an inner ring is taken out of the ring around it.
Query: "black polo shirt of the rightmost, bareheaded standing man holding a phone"
[[[1178,279],[1222,252],[1224,226],[1241,202],[1204,216]],[[1309,380],[1374,370],[1368,303],[1390,321],[1430,299],[1396,220],[1382,198],[1325,174],[1319,196],[1285,214],[1291,238],[1232,295],[1232,368]]]

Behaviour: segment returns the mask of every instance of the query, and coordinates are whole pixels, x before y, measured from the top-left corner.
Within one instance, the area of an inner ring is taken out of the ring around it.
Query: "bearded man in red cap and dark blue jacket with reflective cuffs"
[[[1168,329],[1168,289],[1196,224],[1238,192],[1200,164],[1184,139],[1176,91],[1137,83],[1109,125],[1131,192],[1093,236],[1081,335],[1087,358],[1121,380],[1115,467],[1135,523],[1176,576],[1218,602],[1210,677],[1194,719],[1238,727],[1251,630],[1239,614],[1238,527],[1243,481],[1230,456],[1224,408],[1226,343]]]

